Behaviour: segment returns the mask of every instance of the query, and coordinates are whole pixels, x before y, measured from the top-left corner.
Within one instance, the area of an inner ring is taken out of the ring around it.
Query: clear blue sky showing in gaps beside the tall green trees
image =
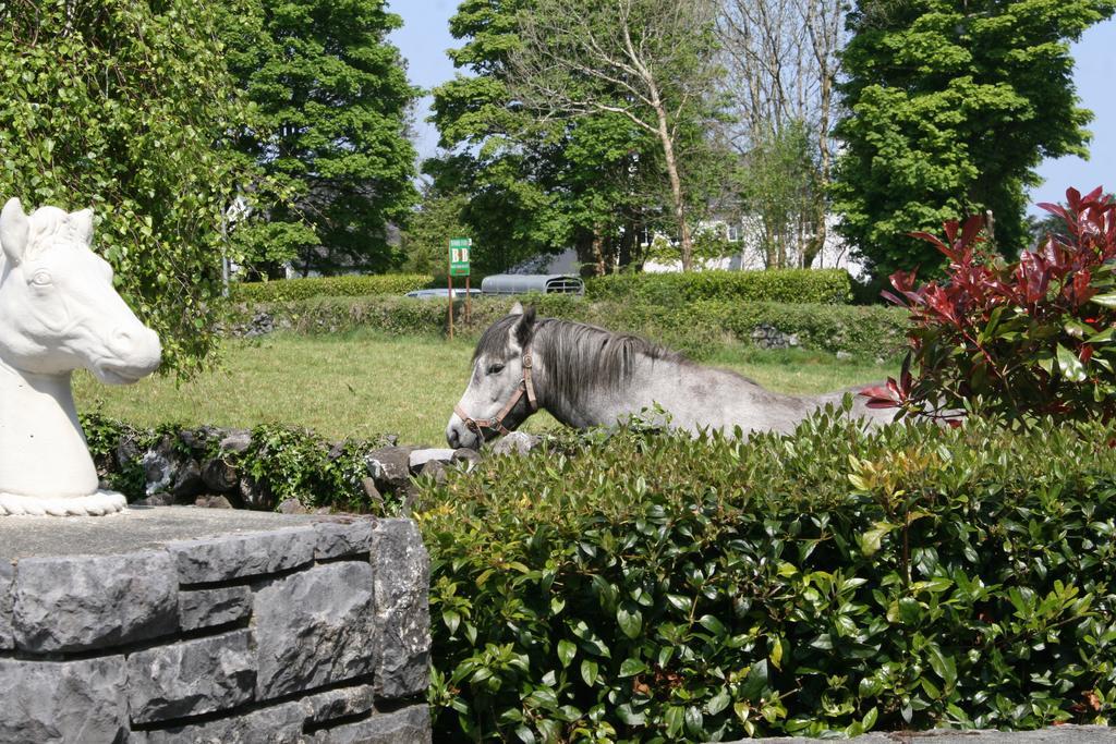
[[[403,52],[408,76],[414,85],[432,88],[453,77],[454,69],[445,50],[456,46],[450,36],[449,20],[458,0],[389,0],[391,9],[403,17],[404,26],[392,35],[392,41]],[[1032,190],[1031,202],[1061,201],[1068,186],[1088,191],[1105,186],[1116,191],[1116,97],[1112,95],[1116,80],[1116,19],[1095,26],[1074,45],[1077,95],[1095,114],[1089,129],[1093,142],[1090,157],[1064,157],[1046,161],[1039,175],[1046,181]],[[420,157],[430,157],[437,148],[437,132],[423,119],[429,115],[430,99],[416,112],[415,133]]]

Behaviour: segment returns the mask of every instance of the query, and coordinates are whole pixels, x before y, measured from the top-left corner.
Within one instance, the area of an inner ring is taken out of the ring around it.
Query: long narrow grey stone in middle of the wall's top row
[[[229,534],[167,543],[182,583],[228,581],[276,573],[314,560],[318,533],[312,525]]]

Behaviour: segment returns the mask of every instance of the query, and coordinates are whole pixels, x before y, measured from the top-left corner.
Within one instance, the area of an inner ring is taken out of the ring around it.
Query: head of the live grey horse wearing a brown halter
[[[518,302],[492,323],[473,352],[473,376],[445,427],[451,447],[480,448],[485,439],[513,431],[536,408],[530,345],[535,309]]]

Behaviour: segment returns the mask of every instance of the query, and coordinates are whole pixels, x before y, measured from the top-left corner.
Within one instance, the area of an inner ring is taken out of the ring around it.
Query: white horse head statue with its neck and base
[[[162,349],[116,293],[92,239],[90,210],[28,215],[12,199],[0,211],[0,515],[125,505],[97,487],[70,373],[134,383],[158,367]]]

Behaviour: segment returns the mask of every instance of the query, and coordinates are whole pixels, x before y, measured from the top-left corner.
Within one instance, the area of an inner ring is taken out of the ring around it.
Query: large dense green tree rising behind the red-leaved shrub
[[[876,276],[942,257],[907,236],[991,211],[1000,250],[1026,239],[1043,157],[1087,156],[1069,44],[1113,0],[862,0],[844,52],[835,200]]]

